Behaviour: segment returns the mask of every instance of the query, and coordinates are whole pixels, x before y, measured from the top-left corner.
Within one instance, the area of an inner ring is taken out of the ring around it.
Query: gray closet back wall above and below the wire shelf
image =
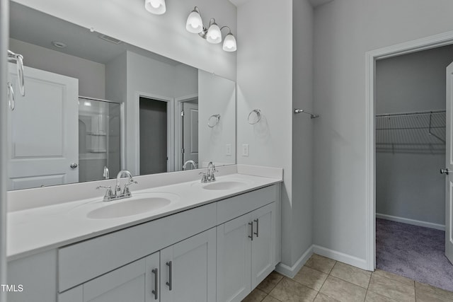
[[[376,112],[445,110],[453,45],[376,63]],[[428,135],[428,134],[427,134]],[[445,224],[445,154],[376,154],[376,212]]]

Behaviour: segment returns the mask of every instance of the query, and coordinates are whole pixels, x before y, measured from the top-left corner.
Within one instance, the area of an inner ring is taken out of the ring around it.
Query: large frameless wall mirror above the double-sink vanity
[[[16,2],[10,20],[25,96],[8,114],[8,190],[236,163],[233,81]]]

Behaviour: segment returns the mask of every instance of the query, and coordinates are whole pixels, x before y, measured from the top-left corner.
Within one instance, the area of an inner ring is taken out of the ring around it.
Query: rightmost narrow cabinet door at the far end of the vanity
[[[254,289],[270,274],[275,265],[275,202],[252,212],[253,241],[251,252],[251,283]]]

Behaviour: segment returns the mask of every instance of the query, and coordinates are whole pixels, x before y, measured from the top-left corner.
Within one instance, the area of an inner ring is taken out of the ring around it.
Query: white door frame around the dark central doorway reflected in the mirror
[[[175,156],[174,156],[174,141],[175,141],[175,129],[174,129],[174,98],[166,97],[163,95],[156,95],[154,93],[145,93],[137,91],[135,93],[135,100],[137,101],[137,112],[135,112],[135,127],[137,127],[137,133],[135,133],[136,150],[134,163],[137,171],[137,175],[140,175],[140,98],[151,98],[152,100],[159,100],[167,103],[167,172],[174,171],[175,167]]]

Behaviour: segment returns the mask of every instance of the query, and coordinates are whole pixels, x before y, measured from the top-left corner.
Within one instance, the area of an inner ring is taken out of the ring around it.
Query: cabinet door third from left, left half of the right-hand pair
[[[241,301],[251,291],[251,214],[217,226],[217,302]]]

